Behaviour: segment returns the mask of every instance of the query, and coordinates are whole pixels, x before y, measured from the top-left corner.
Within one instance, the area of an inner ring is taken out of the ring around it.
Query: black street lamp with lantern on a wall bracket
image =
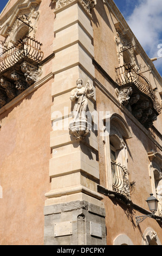
[[[135,216],[135,220],[136,220],[136,224],[138,225],[140,222],[144,221],[145,218],[149,217],[151,218],[152,216],[154,216],[155,212],[157,211],[158,208],[158,200],[157,198],[155,198],[153,196],[153,194],[150,194],[150,197],[147,198],[146,200],[147,204],[148,204],[148,208],[150,209],[150,211],[152,212],[152,214],[150,215],[143,215],[143,216]]]

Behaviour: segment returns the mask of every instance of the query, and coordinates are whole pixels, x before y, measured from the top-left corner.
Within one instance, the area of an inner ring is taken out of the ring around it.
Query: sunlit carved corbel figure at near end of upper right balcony
[[[133,93],[132,87],[128,87],[126,89],[119,90],[115,89],[116,96],[118,97],[119,102],[126,106],[129,102],[129,99]]]

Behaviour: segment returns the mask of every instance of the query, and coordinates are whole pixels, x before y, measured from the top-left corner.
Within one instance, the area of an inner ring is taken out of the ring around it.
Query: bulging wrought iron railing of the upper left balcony
[[[0,72],[14,66],[19,60],[25,57],[33,62],[40,63],[43,58],[41,45],[34,38],[24,36],[14,46],[3,50],[0,56]]]

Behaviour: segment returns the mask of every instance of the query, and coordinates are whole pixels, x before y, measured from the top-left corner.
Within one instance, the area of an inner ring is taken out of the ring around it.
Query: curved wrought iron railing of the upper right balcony
[[[153,102],[155,111],[159,114],[161,112],[160,103],[157,100],[157,96],[151,86],[151,83],[142,74],[138,74],[131,64],[126,64],[116,68],[116,83],[119,86],[134,83],[135,86],[140,90],[141,93],[146,94]]]

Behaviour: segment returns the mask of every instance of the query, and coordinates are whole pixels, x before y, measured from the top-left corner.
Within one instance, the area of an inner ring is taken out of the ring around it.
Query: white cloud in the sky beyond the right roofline
[[[127,22],[150,58],[158,57],[162,43],[162,1],[141,0]]]

